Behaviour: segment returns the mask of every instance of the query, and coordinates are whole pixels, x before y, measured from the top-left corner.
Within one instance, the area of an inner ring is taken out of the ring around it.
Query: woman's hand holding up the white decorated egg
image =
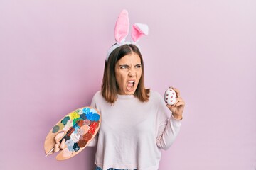
[[[178,89],[174,87],[171,87],[171,89],[173,89],[176,92],[177,98],[176,98],[176,102],[173,105],[167,105],[167,107],[172,112],[174,118],[181,120],[184,107],[185,107],[185,102],[181,98],[181,93]]]

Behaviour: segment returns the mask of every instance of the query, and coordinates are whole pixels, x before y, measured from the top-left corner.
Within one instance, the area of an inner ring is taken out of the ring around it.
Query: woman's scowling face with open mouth
[[[132,52],[117,61],[115,76],[119,87],[118,94],[134,94],[142,77],[142,63],[139,55]]]

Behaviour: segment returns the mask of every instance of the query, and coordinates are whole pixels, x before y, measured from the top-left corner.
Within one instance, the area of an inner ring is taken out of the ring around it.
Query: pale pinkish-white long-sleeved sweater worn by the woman
[[[158,169],[161,149],[171,146],[181,126],[155,91],[147,102],[133,95],[117,95],[114,105],[98,91],[91,107],[100,111],[102,123],[98,137],[88,146],[97,145],[95,164],[103,170]]]

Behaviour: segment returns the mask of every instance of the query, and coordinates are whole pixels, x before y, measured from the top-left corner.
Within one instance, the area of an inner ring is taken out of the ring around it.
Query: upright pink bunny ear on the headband
[[[117,42],[124,42],[129,33],[129,17],[128,12],[124,9],[117,19],[114,28],[114,38]]]

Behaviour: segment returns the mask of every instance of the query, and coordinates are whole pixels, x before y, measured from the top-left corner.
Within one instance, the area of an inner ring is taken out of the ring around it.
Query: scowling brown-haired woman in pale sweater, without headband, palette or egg
[[[89,145],[97,146],[96,169],[158,169],[161,149],[171,146],[181,125],[185,104],[174,91],[177,101],[166,107],[160,94],[144,88],[138,47],[113,50],[105,62],[102,90],[91,103],[102,115],[99,135]]]

